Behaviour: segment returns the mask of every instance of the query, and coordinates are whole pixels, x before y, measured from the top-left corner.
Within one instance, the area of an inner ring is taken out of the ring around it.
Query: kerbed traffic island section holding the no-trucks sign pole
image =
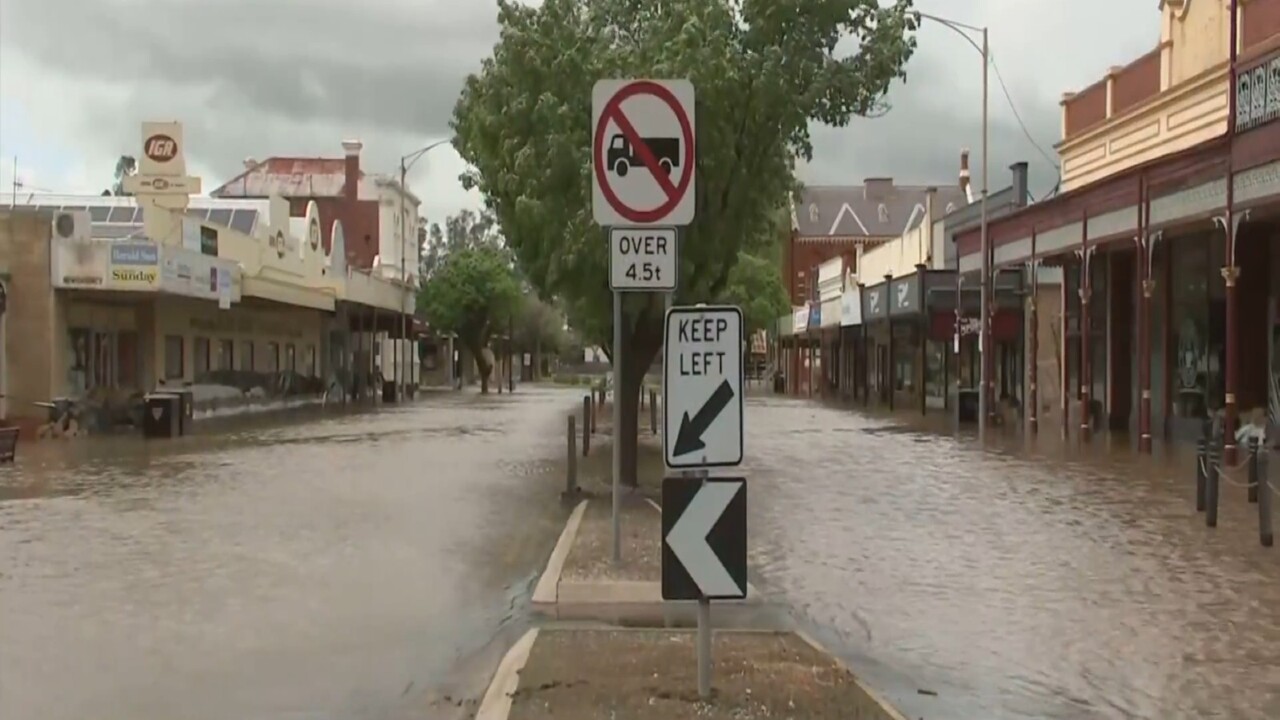
[[[557,620],[599,620],[618,625],[672,628],[696,623],[696,602],[662,600],[662,510],[649,498],[622,503],[622,562],[613,562],[613,505],[609,497],[582,502],[561,534],[534,591],[534,610]],[[716,624],[777,626],[780,611],[754,587],[745,601],[716,603]]]

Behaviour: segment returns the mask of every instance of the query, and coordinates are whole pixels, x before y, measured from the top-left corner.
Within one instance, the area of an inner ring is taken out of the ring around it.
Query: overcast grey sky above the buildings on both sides
[[[1059,99],[1152,49],[1156,0],[918,0],[916,8],[991,27],[1018,113],[1050,158]],[[364,141],[366,172],[445,137],[466,74],[497,38],[492,0],[0,0],[0,188],[101,192],[115,159],[136,154],[140,122],[186,124],[188,172],[205,190],[246,158],[340,156]],[[891,94],[892,113],[815,128],[809,183],[865,177],[942,184],[973,151],[980,181],[982,63],[947,28],[927,24]],[[992,190],[1032,163],[1032,191],[1056,170],[1032,145],[992,76]],[[433,222],[479,205],[457,182],[452,147],[410,174]]]

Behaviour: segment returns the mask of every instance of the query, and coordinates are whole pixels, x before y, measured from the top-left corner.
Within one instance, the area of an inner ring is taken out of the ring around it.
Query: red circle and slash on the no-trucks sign
[[[622,101],[637,95],[652,95],[658,100],[662,100],[671,111],[676,115],[676,122],[680,123],[680,140],[685,146],[682,155],[682,161],[685,164],[684,173],[680,177],[680,183],[672,184],[667,173],[662,169],[658,159],[654,156],[653,151],[645,143],[640,133],[636,132],[635,126],[631,120],[622,114]],[[608,133],[604,132],[609,126],[609,122],[618,126],[618,129],[626,137],[627,142],[635,150],[636,156],[644,164],[644,167],[653,176],[654,181],[662,188],[663,195],[667,200],[652,210],[637,210],[635,208],[627,206],[618,197],[617,192],[609,187],[608,167],[605,163],[605,138]],[[672,210],[680,205],[680,201],[685,199],[685,193],[689,191],[689,184],[694,178],[694,128],[689,122],[689,115],[685,109],[680,106],[680,101],[675,95],[662,85],[652,81],[636,81],[630,85],[623,86],[618,90],[609,101],[604,104],[604,109],[600,111],[599,123],[595,126],[595,140],[591,142],[593,150],[593,165],[595,165],[595,182],[600,186],[600,193],[604,195],[604,200],[608,201],[613,210],[631,220],[632,223],[658,223],[662,222]]]

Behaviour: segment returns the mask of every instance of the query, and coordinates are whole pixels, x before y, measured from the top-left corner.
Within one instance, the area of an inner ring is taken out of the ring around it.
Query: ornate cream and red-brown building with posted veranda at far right
[[[1149,451],[1221,416],[1230,456],[1242,411],[1280,402],[1280,0],[1165,0],[1156,22],[1157,47],[1064,96],[1065,192],[991,246],[1000,268],[1062,269],[1065,401],[1041,427]],[[979,234],[956,245],[977,269]]]

